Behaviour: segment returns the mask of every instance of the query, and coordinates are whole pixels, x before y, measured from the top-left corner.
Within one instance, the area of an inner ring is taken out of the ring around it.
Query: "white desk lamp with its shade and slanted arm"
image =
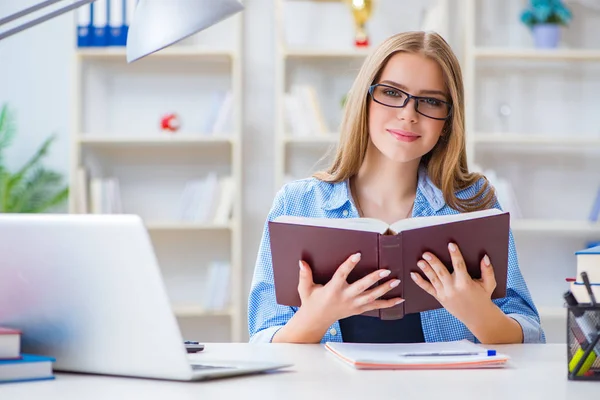
[[[0,41],[95,0],[74,0],[62,8],[0,32]],[[64,0],[46,0],[0,19],[0,27]],[[66,1],[68,2],[68,1]],[[127,62],[171,46],[242,11],[238,0],[139,0],[127,34]]]

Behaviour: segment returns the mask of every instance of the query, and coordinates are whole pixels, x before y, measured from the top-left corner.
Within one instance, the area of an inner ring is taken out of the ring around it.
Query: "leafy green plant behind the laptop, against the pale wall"
[[[63,176],[41,163],[55,136],[48,137],[33,156],[16,172],[4,162],[4,150],[12,143],[16,124],[8,105],[0,110],[0,212],[41,213],[61,205],[69,196]]]

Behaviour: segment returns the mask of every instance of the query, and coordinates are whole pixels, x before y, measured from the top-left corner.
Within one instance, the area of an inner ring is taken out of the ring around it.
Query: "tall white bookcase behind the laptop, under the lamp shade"
[[[204,342],[240,341],[245,329],[242,17],[132,64],[118,47],[79,48],[73,64],[70,212],[140,215],[184,337]],[[229,113],[219,122],[227,93]],[[170,113],[179,117],[176,132],[160,128]],[[188,183],[208,177],[213,186],[189,197],[197,207],[183,218]],[[118,181],[118,205],[97,210],[99,179],[108,178]],[[216,210],[228,200],[231,207]]]

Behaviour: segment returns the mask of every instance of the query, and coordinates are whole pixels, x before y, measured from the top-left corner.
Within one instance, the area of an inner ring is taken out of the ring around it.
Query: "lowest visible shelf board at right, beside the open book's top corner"
[[[599,235],[600,223],[576,220],[512,219],[514,233],[549,233],[556,235]]]

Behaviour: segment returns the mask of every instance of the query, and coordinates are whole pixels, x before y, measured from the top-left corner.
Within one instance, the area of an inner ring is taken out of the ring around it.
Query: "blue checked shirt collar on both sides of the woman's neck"
[[[444,207],[444,194],[433,184],[427,174],[427,168],[425,166],[419,167],[417,198],[419,198],[419,193],[425,197],[434,211],[437,212]],[[350,187],[348,180],[332,184],[332,189],[325,196],[324,200],[323,209],[328,211],[336,210],[350,202]]]

